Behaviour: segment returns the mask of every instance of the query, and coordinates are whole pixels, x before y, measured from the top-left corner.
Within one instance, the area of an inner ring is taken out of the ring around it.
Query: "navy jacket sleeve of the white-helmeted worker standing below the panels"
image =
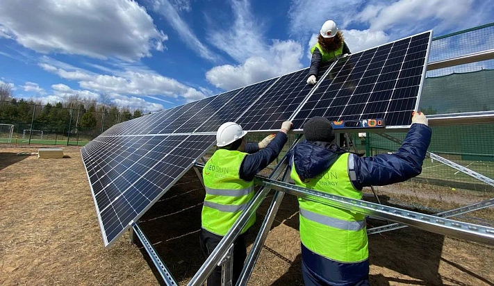
[[[285,146],[288,137],[285,133],[279,132],[270,142],[265,149],[259,150],[257,143],[249,143],[245,145],[246,155],[240,165],[240,171],[238,172],[242,180],[251,181],[254,180],[254,176],[259,171],[270,165],[274,161]]]

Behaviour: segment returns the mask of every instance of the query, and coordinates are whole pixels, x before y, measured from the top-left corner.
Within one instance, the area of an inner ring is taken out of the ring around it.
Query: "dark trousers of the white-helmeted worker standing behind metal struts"
[[[201,228],[201,235],[199,238],[201,251],[204,256],[208,258],[223,237]],[[236,285],[240,273],[242,273],[245,258],[247,258],[247,249],[245,247],[245,233],[243,233],[235,239],[235,242],[233,242],[233,285]],[[208,278],[208,286],[218,285],[221,285],[221,266],[216,267]]]

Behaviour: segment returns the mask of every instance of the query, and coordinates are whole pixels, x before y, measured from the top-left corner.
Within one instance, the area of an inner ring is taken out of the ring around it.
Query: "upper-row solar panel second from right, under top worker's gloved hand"
[[[332,63],[332,62],[331,62]],[[330,64],[322,65],[320,78]],[[246,131],[273,131],[290,119],[313,85],[306,83],[308,68],[281,76],[279,80],[247,110],[237,123]]]

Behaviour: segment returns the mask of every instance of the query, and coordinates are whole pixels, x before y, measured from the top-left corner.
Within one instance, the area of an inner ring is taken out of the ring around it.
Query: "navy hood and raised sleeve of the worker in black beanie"
[[[354,160],[356,173],[356,177],[352,178],[354,187],[362,190],[363,187],[390,185],[418,176],[422,171],[422,162],[431,142],[431,134],[429,126],[412,124],[396,153],[372,157],[350,154]],[[336,144],[304,141],[290,151],[288,158],[295,154],[293,162],[300,177],[314,178],[331,167],[342,152],[345,151]]]

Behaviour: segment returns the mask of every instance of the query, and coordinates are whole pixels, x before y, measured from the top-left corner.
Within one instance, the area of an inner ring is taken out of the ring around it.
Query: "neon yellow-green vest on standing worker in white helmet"
[[[247,153],[219,149],[206,162],[202,170],[206,198],[202,207],[202,228],[217,235],[226,235],[254,197],[254,182],[242,180],[240,165]],[[249,219],[242,233],[254,224]]]

